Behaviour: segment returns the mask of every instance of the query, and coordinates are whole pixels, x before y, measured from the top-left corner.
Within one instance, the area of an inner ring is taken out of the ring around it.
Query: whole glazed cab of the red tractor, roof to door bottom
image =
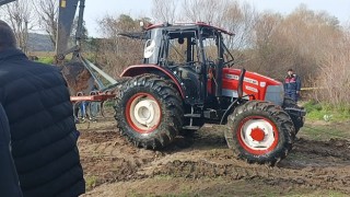
[[[151,25],[138,36],[145,39],[143,65],[172,73],[180,84],[185,103],[205,105],[208,99],[222,95],[222,68],[234,60],[222,34],[233,35],[206,23]],[[214,85],[208,90],[211,81]]]

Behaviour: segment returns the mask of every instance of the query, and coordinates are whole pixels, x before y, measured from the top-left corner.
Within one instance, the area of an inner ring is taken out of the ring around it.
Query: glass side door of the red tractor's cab
[[[161,65],[172,70],[185,85],[185,102],[190,105],[203,104],[203,62],[198,51],[196,31],[168,31],[164,38],[164,54]]]

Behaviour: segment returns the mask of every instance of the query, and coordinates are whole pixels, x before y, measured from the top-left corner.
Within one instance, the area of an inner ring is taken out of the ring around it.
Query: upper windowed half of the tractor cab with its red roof
[[[203,63],[210,58],[233,56],[222,42],[224,30],[205,23],[152,25],[144,47],[144,63],[162,66]],[[225,50],[226,49],[226,50]],[[224,51],[225,50],[225,51]]]

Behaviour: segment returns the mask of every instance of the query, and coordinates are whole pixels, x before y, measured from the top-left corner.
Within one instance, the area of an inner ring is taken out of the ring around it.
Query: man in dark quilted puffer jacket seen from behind
[[[23,196],[83,194],[79,135],[67,83],[58,68],[31,61],[16,49],[13,32],[3,21],[0,103],[9,119],[12,157]]]

